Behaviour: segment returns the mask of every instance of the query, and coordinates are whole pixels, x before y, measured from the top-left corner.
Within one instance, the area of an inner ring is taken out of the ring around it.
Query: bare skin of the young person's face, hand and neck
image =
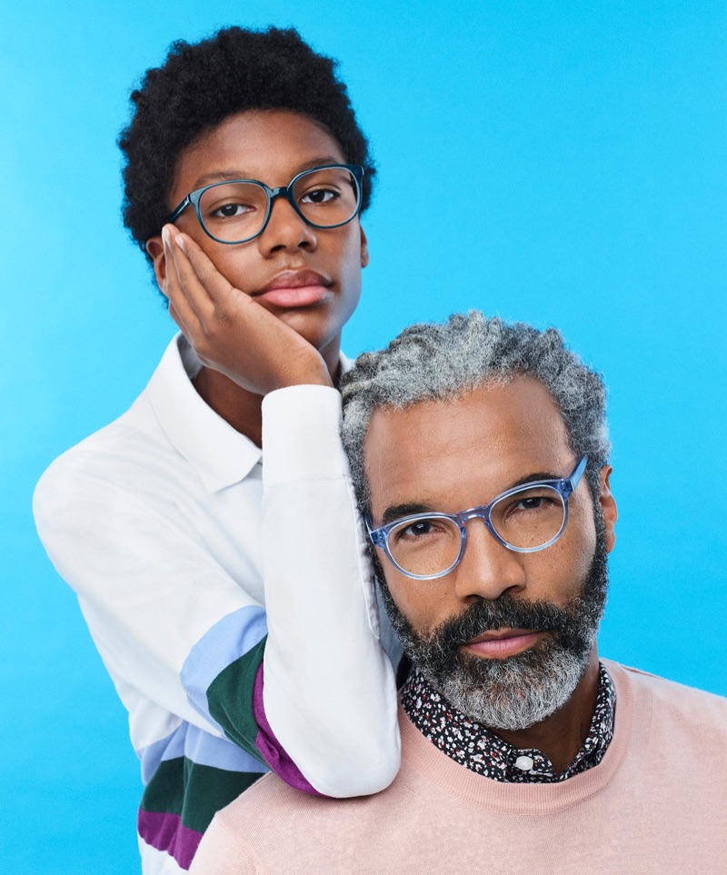
[[[180,155],[169,210],[219,174],[275,187],[312,164],[332,162],[345,162],[341,147],[302,115],[235,114]],[[339,228],[311,228],[279,198],[263,234],[229,245],[204,234],[187,207],[146,248],[169,313],[203,363],[197,391],[239,432],[260,445],[264,394],[334,384],[341,331],[358,303],[368,263],[358,218]],[[280,274],[301,271],[321,278],[324,293],[315,303],[282,307],[262,294]]]

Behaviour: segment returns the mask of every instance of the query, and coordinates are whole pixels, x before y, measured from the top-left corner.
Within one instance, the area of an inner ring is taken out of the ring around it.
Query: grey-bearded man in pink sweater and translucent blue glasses
[[[599,375],[553,329],[470,313],[361,356],[343,392],[413,666],[402,768],[358,800],[266,776],[192,871],[726,871],[727,701],[597,655],[616,522]]]

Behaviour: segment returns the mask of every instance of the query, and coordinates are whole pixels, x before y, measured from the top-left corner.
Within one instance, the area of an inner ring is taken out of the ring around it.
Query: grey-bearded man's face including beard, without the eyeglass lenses
[[[551,394],[532,377],[446,403],[373,413],[364,445],[373,524],[406,513],[457,513],[524,480],[567,477],[577,460]],[[467,525],[463,560],[417,581],[378,551],[383,598],[404,649],[460,711],[494,729],[524,729],[567,701],[603,613],[616,508],[609,469],[595,508],[583,479],[561,538],[517,553]]]

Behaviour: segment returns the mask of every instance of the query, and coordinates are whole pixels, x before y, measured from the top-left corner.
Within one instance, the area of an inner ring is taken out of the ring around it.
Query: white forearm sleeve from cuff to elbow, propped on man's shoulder
[[[393,781],[400,746],[340,421],[334,389],[264,400],[264,710],[315,790],[359,796]]]

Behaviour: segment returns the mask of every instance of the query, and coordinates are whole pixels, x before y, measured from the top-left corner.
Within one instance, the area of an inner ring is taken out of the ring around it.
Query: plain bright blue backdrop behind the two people
[[[727,5],[25,0],[0,15],[0,869],[137,870],[125,713],[30,513],[173,333],[119,218],[131,86],[177,37],[298,26],[380,184],[350,354],[471,307],[555,324],[610,387],[602,652],[727,693]]]

